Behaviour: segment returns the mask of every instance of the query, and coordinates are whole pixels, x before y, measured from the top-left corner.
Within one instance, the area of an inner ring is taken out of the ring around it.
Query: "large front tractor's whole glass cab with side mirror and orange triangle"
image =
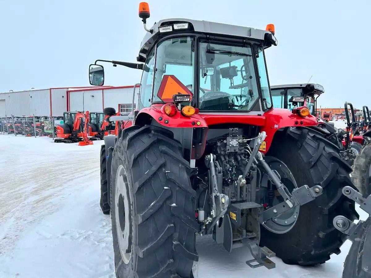
[[[148,29],[147,29],[148,30]],[[222,112],[262,115],[272,108],[264,50],[277,45],[274,26],[266,30],[191,19],[160,20],[148,30],[138,62],[114,65],[143,69],[138,117],[144,108],[169,104],[183,116]],[[103,67],[92,64],[90,80]],[[104,81],[104,72],[101,75]],[[103,85],[91,81],[92,85]],[[170,112],[173,113],[173,112]],[[135,115],[137,116],[137,115]],[[150,116],[150,115],[149,115]],[[149,118],[149,117],[148,117]],[[157,117],[158,119],[158,117]]]

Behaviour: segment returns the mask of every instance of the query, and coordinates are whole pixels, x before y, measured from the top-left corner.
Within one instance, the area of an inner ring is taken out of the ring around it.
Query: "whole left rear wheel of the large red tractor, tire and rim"
[[[132,126],[112,157],[112,236],[116,277],[191,277],[196,192],[173,133]]]

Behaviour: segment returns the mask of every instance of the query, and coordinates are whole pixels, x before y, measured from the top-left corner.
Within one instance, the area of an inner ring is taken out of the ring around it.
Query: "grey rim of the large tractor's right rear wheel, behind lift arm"
[[[266,156],[265,161],[272,170],[276,170],[279,173],[281,176],[281,182],[288,188],[290,192],[292,192],[294,188],[298,188],[294,176],[285,163],[271,156]],[[268,176],[263,169],[260,170],[262,171],[261,185],[266,187],[269,181]],[[283,201],[282,196],[276,196],[275,194],[273,197],[273,206],[278,205],[278,203]],[[295,225],[296,221],[298,220],[299,209],[300,206],[295,206],[288,211],[283,212],[282,214],[268,219],[262,225],[271,232],[276,234],[284,234],[290,231],[290,229],[292,229],[292,227]]]

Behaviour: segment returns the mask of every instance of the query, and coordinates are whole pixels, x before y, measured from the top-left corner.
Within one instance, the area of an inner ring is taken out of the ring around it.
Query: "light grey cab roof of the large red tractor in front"
[[[188,23],[187,28],[176,29],[174,24]],[[169,26],[168,31],[163,32],[160,27]],[[170,28],[171,27],[171,28]],[[161,37],[172,34],[198,33],[211,36],[233,37],[235,39],[255,40],[263,43],[264,47],[277,45],[275,36],[270,31],[255,29],[251,27],[236,26],[225,23],[217,23],[205,20],[193,20],[183,18],[163,19],[155,23],[147,32],[141,43],[138,62],[145,62],[146,54],[152,49]]]

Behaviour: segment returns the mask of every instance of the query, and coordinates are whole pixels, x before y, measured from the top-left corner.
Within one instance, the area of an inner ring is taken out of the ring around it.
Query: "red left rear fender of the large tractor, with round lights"
[[[207,128],[206,121],[198,114],[183,116],[177,111],[174,116],[168,116],[164,112],[164,105],[152,105],[141,109],[135,119],[135,125],[145,125],[154,119],[163,128]],[[148,122],[149,121],[149,122]],[[127,125],[125,125],[127,128]]]

